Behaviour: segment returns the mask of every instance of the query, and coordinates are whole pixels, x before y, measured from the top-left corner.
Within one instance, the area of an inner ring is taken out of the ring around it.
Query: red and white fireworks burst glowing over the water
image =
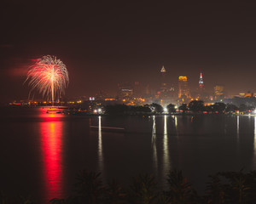
[[[35,64],[29,68],[26,81],[34,89],[38,89],[43,97],[51,98],[52,102],[56,97],[64,94],[64,89],[68,84],[67,67],[55,56],[46,55],[37,59]]]

